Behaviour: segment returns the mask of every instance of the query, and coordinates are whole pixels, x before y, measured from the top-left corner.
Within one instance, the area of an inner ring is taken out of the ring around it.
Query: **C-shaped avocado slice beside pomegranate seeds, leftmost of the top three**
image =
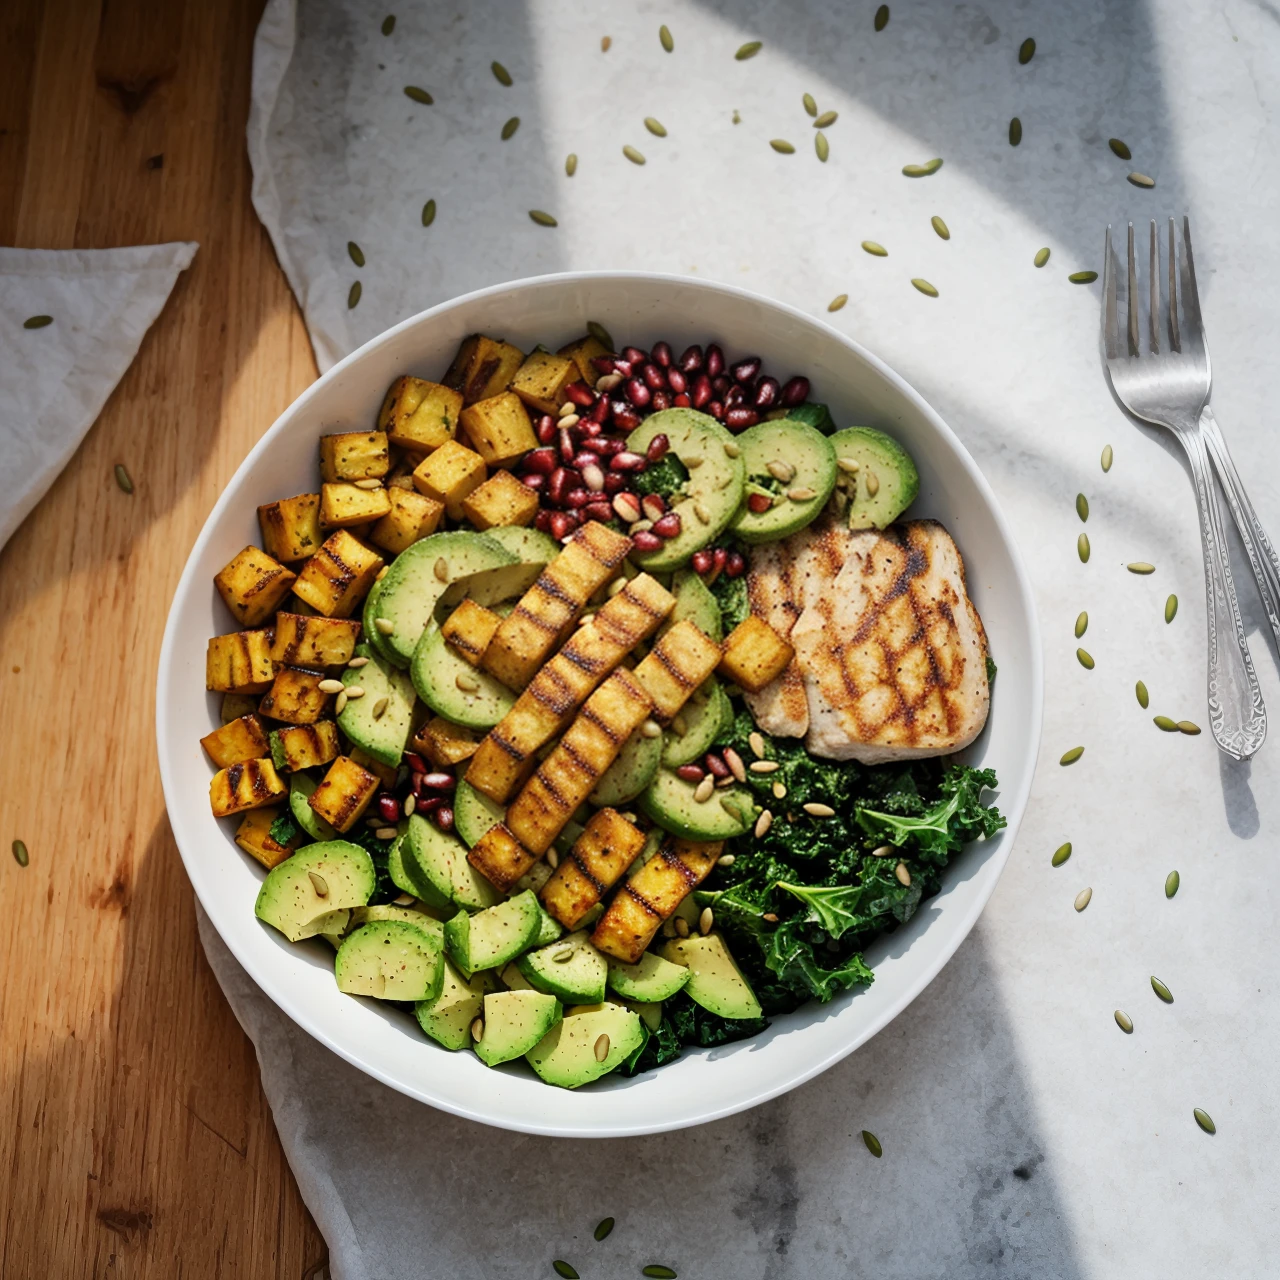
[[[746,467],[741,456],[730,457],[724,445],[733,436],[709,413],[695,408],[666,408],[650,413],[628,436],[627,448],[644,453],[655,435],[666,435],[671,452],[689,468],[684,497],[671,504],[680,516],[680,532],[658,550],[632,552],[631,558],[653,573],[680,568],[694,552],[714,541],[742,504]],[[698,461],[690,466],[690,460]],[[701,517],[705,516],[707,520]]]

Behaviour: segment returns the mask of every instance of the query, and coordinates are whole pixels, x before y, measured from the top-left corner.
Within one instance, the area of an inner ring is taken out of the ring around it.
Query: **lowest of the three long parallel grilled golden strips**
[[[591,694],[507,810],[507,827],[530,852],[541,856],[550,849],[652,708],[653,699],[626,668]]]

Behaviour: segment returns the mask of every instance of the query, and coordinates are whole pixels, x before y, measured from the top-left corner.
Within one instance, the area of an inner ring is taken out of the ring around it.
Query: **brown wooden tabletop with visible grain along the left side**
[[[183,561],[246,451],[315,378],[250,204],[260,10],[0,0],[0,243],[200,242],[0,553],[5,1280],[297,1280],[324,1258],[196,937],[155,760]]]

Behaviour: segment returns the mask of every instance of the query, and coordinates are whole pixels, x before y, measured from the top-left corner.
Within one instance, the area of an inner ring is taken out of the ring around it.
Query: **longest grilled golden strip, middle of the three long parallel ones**
[[[568,723],[605,676],[658,628],[676,598],[641,573],[570,636],[516,699],[467,767],[467,782],[506,804],[529,773],[534,753]]]

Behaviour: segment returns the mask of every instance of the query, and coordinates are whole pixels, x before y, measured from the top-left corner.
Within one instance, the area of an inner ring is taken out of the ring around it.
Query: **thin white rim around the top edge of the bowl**
[[[269,982],[260,980],[257,974],[251,966],[252,963],[248,957],[242,956],[233,942],[225,938],[215,923],[215,914],[209,909],[204,897],[197,887],[198,878],[192,874],[192,865],[188,859],[188,852],[183,849],[182,840],[178,836],[178,828],[169,815],[170,805],[180,805],[182,795],[179,783],[175,777],[173,777],[172,767],[169,764],[170,759],[174,758],[170,746],[172,740],[169,735],[169,723],[165,714],[164,704],[164,691],[166,685],[170,682],[172,668],[177,660],[178,649],[178,630],[179,618],[184,612],[184,605],[188,595],[196,582],[196,567],[201,559],[202,552],[207,543],[214,536],[214,530],[221,522],[221,517],[227,508],[232,503],[233,490],[238,488],[237,481],[239,477],[250,468],[257,465],[260,457],[268,451],[273,440],[284,431],[293,417],[301,412],[305,412],[307,406],[311,404],[319,397],[323,397],[328,390],[329,385],[339,380],[343,374],[365,360],[372,352],[379,349],[387,343],[393,342],[399,334],[417,325],[421,325],[429,320],[435,319],[453,308],[466,306],[471,302],[477,302],[489,297],[498,294],[509,294],[513,291],[522,291],[534,285],[547,285],[547,284],[564,284],[571,285],[576,283],[589,283],[589,282],[636,282],[645,284],[667,284],[672,288],[695,288],[699,291],[705,291],[709,293],[719,293],[727,296],[732,300],[748,301],[758,306],[764,306],[774,311],[788,315],[791,319],[800,321],[804,325],[810,325],[824,330],[827,335],[836,339],[842,347],[845,347],[850,355],[855,358],[861,360],[867,366],[869,366],[874,372],[883,378],[899,396],[904,397],[913,407],[923,415],[928,421],[929,426],[937,431],[943,439],[946,439],[952,447],[954,453],[960,460],[969,481],[977,488],[982,499],[987,504],[988,512],[996,526],[996,530],[1004,543],[1005,550],[1009,554],[1010,563],[1014,571],[1014,580],[1016,586],[1016,595],[1021,605],[1023,622],[1027,627],[1028,635],[1028,648],[1029,653],[1027,655],[1027,662],[1029,664],[1029,681],[1032,690],[1030,705],[1024,709],[1024,718],[1028,722],[1029,740],[1032,744],[1032,759],[1029,760],[1029,768],[1025,772],[1024,781],[1016,792],[1006,794],[1001,791],[1001,808],[1005,812],[1007,826],[1005,827],[1002,836],[1005,837],[1001,842],[1001,847],[997,851],[995,873],[991,877],[991,887],[980,893],[973,904],[970,904],[965,915],[960,919],[959,927],[952,932],[954,941],[943,945],[934,957],[933,963],[929,964],[923,973],[899,993],[886,1009],[873,1018],[868,1024],[865,1024],[859,1034],[852,1038],[849,1043],[837,1046],[823,1056],[817,1059],[801,1060],[797,1065],[796,1073],[782,1083],[764,1085],[758,1091],[751,1091],[746,1097],[739,1097],[732,1101],[717,1102],[712,1097],[708,1097],[705,1111],[703,1111],[696,1119],[675,1119],[675,1120],[636,1120],[621,1124],[598,1125],[593,1124],[590,1126],[576,1126],[564,1124],[548,1124],[538,1121],[521,1121],[520,1119],[511,1119],[504,1115],[486,1114],[480,1108],[474,1106],[467,1106],[465,1103],[456,1102],[448,1097],[440,1097],[434,1093],[429,1087],[424,1088],[420,1082],[406,1082],[401,1079],[392,1078],[389,1073],[380,1070],[376,1065],[370,1064],[361,1059],[358,1052],[353,1048],[343,1044],[340,1041],[328,1034],[323,1028],[315,1025],[312,1020],[302,1012],[294,1002],[289,998],[289,992],[283,984],[273,984]],[[225,483],[223,492],[219,494],[218,500],[214,503],[211,511],[205,518],[201,526],[200,534],[196,541],[192,544],[191,552],[187,557],[187,563],[183,566],[178,584],[174,588],[173,599],[169,605],[169,614],[165,621],[164,637],[160,646],[160,662],[156,671],[156,750],[159,755],[160,767],[160,785],[165,797],[165,810],[169,818],[170,832],[173,833],[174,844],[178,846],[179,856],[183,860],[183,867],[187,870],[187,877],[191,882],[192,890],[195,891],[196,899],[204,909],[205,914],[209,916],[215,932],[218,932],[219,938],[223,945],[230,951],[236,957],[237,964],[246,972],[253,984],[282,1011],[284,1012],[297,1027],[302,1028],[312,1039],[319,1041],[332,1052],[337,1053],[340,1059],[349,1062],[357,1070],[365,1073],[379,1080],[381,1084],[396,1089],[398,1093],[403,1093],[407,1097],[415,1098],[428,1106],[436,1107],[442,1111],[447,1111],[452,1115],[461,1116],[467,1120],[475,1120],[480,1124],[486,1124],[494,1128],[507,1129],[516,1133],[529,1133],[543,1137],[553,1138],[626,1138],[626,1137],[639,1137],[652,1133],[663,1133],[673,1129],[692,1128],[695,1125],[709,1124],[713,1120],[721,1120],[730,1115],[736,1115],[740,1111],[748,1111],[751,1107],[759,1106],[762,1102],[768,1102],[771,1098],[780,1097],[783,1093],[788,1093],[801,1084],[814,1079],[823,1071],[835,1066],[836,1062],[842,1061],[855,1050],[860,1048],[881,1030],[884,1029],[895,1018],[897,1018],[915,998],[928,987],[933,979],[941,973],[943,966],[951,960],[955,952],[959,950],[960,945],[969,937],[973,932],[974,924],[978,922],[978,916],[986,909],[987,902],[991,900],[995,892],[996,884],[1000,877],[1004,874],[1006,863],[1009,861],[1010,854],[1012,852],[1014,841],[1018,836],[1018,828],[1021,824],[1023,815],[1027,809],[1027,803],[1030,795],[1032,782],[1036,773],[1036,763],[1039,755],[1039,742],[1043,723],[1043,703],[1044,703],[1044,677],[1043,677],[1043,645],[1041,639],[1039,618],[1036,612],[1034,593],[1032,589],[1030,577],[1027,572],[1027,566],[1023,562],[1021,553],[1018,549],[1018,543],[1012,536],[1012,529],[1005,517],[1000,503],[996,499],[996,494],[988,484],[986,476],[979,470],[977,462],[970,456],[969,451],[965,448],[960,438],[951,430],[942,416],[933,408],[932,404],[905,379],[901,374],[896,372],[890,365],[881,360],[877,355],[868,351],[856,339],[850,338],[847,334],[841,333],[838,329],[828,324],[827,321],[810,315],[806,311],[801,311],[787,302],[781,302],[776,298],[765,297],[764,294],[756,293],[751,289],[745,289],[740,285],[726,284],[719,280],[707,280],[699,279],[696,276],[677,275],[669,271],[631,271],[631,270],[607,270],[596,269],[589,271],[553,271],[543,275],[524,276],[517,280],[504,280],[498,284],[489,284],[480,289],[472,289],[468,293],[458,294],[457,297],[448,298],[435,306],[428,307],[424,311],[419,311],[412,316],[401,320],[399,323],[384,329],[381,333],[370,338],[366,343],[357,347],[348,356],[343,357],[325,372],[323,372],[306,390],[303,390],[298,397],[289,402],[289,404],[282,411],[282,413],[275,419],[271,426],[262,434],[257,443],[250,449],[244,456],[239,466],[236,468],[233,475]]]

